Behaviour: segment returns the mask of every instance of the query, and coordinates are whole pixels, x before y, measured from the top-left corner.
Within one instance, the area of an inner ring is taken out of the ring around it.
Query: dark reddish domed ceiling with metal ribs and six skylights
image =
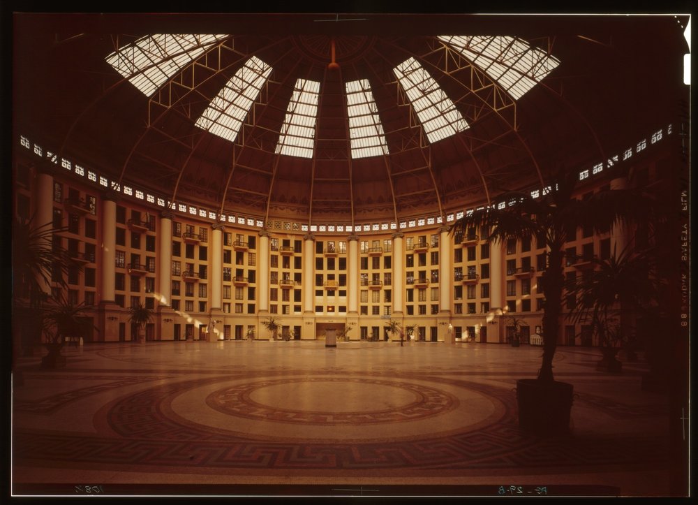
[[[675,120],[687,22],[15,14],[15,135],[213,212],[443,217]]]

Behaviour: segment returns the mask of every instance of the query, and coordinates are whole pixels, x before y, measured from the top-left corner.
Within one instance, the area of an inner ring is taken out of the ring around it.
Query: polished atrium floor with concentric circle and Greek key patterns
[[[571,434],[517,425],[540,348],[148,342],[22,358],[13,495],[666,496],[667,400],[642,358],[560,347]]]

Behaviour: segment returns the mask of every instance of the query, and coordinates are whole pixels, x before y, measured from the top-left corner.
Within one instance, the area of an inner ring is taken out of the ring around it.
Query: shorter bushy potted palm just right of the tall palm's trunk
[[[635,344],[632,321],[637,313],[647,313],[658,303],[664,281],[655,275],[654,248],[634,251],[630,244],[614,249],[609,258],[591,258],[594,270],[567,283],[565,289],[577,303],[567,316],[574,322],[591,323],[602,359],[597,369],[620,372],[616,358],[621,346]],[[634,350],[634,349],[633,349]]]

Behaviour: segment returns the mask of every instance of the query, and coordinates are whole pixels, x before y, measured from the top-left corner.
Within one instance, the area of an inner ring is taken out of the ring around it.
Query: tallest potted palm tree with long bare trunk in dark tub
[[[463,235],[471,228],[487,233],[495,243],[530,240],[547,249],[542,275],[545,303],[542,315],[543,353],[537,379],[517,381],[519,427],[538,433],[568,432],[572,409],[572,384],[556,381],[553,358],[558,343],[564,281],[563,249],[567,230],[588,226],[595,233],[614,224],[649,222],[655,206],[650,198],[632,189],[604,189],[583,200],[575,197],[579,177],[560,171],[554,182],[534,198],[530,192],[507,191],[500,195],[505,206],[489,205],[456,220],[450,233]],[[539,289],[541,286],[539,285]]]

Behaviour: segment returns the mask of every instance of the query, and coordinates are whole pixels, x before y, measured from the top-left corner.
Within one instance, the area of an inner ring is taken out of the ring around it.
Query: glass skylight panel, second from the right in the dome
[[[470,127],[456,105],[417,60],[407,59],[393,68],[393,72],[412,102],[429,142],[433,144]]]

